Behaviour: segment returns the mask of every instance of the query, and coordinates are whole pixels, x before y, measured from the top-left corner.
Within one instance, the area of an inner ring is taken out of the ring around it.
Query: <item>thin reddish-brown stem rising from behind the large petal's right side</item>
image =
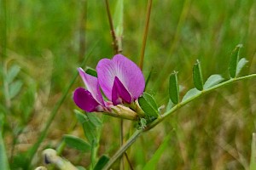
[[[140,55],[140,64],[139,64],[141,70],[143,70],[143,61],[144,61],[145,48],[146,48],[147,37],[148,37],[148,27],[149,27],[149,20],[150,20],[150,14],[151,14],[151,7],[152,7],[152,0],[148,0],[146,25],[143,33],[143,47]]]

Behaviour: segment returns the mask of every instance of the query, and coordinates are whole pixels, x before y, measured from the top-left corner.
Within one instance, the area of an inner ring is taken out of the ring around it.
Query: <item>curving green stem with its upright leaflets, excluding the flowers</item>
[[[240,73],[242,67],[247,63],[247,60],[242,58],[239,60],[239,50],[242,46],[237,45],[235,50],[232,52],[231,57],[230,57],[230,65],[229,65],[229,71],[230,68],[232,68],[230,72],[230,79],[224,81],[224,78],[221,77],[220,75],[212,75],[207,79],[207,82],[203,83],[202,80],[202,71],[201,71],[201,65],[200,62],[197,60],[195,66],[194,66],[194,71],[193,71],[193,80],[195,84],[195,88],[192,88],[188,91],[187,94],[183,96],[183,99],[181,102],[178,103],[178,98],[179,91],[178,91],[178,84],[177,84],[177,73],[172,74],[171,77],[175,76],[174,78],[171,78],[170,80],[170,85],[174,85],[175,93],[171,93],[175,97],[170,96],[171,100],[175,99],[175,105],[162,115],[158,116],[157,119],[155,119],[153,122],[149,122],[146,127],[138,129],[135,131],[130,139],[127,140],[125,144],[123,144],[119,150],[116,151],[116,153],[110,158],[106,166],[103,168],[103,170],[109,169],[113,163],[119,159],[119,156],[124,154],[126,150],[133,144],[139,136],[141,136],[144,132],[148,132],[150,129],[153,127],[157,126],[160,124],[160,122],[164,121],[166,117],[171,116],[173,112],[177,111],[178,109],[182,108],[184,105],[187,105],[189,102],[194,101],[195,99],[201,98],[204,94],[209,94],[212,91],[216,90],[217,88],[223,88],[224,86],[230,85],[233,82],[238,82],[250,78],[255,78],[256,74],[250,74],[247,76],[243,77],[237,77],[238,74]],[[234,56],[236,55],[236,56]],[[242,63],[242,64],[241,64]],[[224,81],[224,82],[223,82]],[[169,89],[174,89],[174,88],[169,88]]]

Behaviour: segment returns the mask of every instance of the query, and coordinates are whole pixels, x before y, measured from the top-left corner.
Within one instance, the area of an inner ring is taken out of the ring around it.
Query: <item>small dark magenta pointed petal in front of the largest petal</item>
[[[119,105],[124,100],[126,103],[131,103],[131,95],[125,89],[122,82],[119,81],[118,77],[114,77],[113,88],[112,88],[112,102],[113,105]]]

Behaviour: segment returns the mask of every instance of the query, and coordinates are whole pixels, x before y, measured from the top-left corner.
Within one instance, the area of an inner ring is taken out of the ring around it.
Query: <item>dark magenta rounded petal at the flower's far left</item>
[[[98,111],[98,106],[100,105],[90,92],[84,88],[77,88],[74,91],[73,101],[79,108],[88,112]]]

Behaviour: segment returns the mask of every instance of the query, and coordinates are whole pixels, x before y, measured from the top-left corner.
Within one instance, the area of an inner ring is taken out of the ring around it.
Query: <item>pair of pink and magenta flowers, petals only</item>
[[[113,105],[131,104],[143,94],[143,72],[121,54],[114,55],[113,59],[101,59],[96,71],[97,77],[93,77],[79,68],[86,89],[77,88],[73,100],[84,111],[109,112]],[[108,101],[103,99],[101,89]]]

